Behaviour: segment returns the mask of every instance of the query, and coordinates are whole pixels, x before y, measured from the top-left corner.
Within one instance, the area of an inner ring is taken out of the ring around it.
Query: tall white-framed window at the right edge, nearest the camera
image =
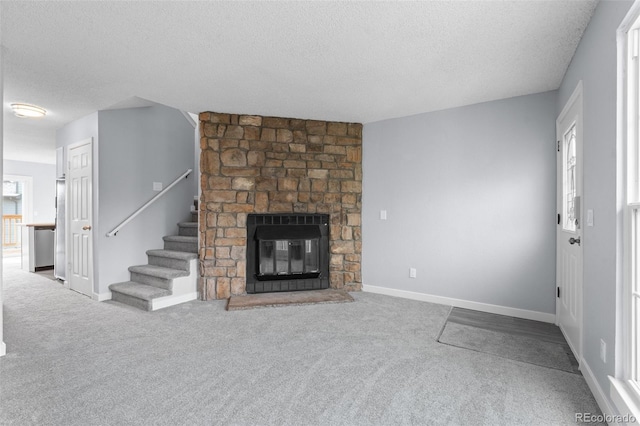
[[[640,419],[640,3],[632,6],[618,30],[618,137],[624,147],[625,191],[623,275],[619,287],[617,350],[622,355],[611,379],[611,399],[620,413]],[[619,146],[620,147],[620,146]],[[622,147],[620,147],[622,148]]]

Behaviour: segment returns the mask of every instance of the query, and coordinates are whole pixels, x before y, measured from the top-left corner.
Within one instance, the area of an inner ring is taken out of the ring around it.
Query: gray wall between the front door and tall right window
[[[630,1],[600,2],[559,89],[556,113],[578,81],[584,90],[584,209],[594,226],[584,228],[583,357],[608,394],[614,374],[616,323],[616,30]],[[600,360],[607,343],[607,364]]]

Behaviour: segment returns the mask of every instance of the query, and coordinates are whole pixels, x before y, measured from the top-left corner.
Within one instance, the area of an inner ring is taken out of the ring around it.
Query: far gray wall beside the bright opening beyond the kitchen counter
[[[33,178],[33,222],[53,223],[56,218],[56,166],[4,160],[4,174]]]

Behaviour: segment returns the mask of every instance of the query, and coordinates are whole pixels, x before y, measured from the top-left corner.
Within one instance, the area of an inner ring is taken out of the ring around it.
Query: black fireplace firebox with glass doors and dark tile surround
[[[247,293],[329,288],[329,215],[249,214]]]

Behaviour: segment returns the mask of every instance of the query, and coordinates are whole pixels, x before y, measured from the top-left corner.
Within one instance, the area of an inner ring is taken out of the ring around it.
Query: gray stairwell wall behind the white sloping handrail
[[[153,106],[99,112],[100,246],[98,293],[128,281],[128,267],[147,263],[146,250],[163,247],[164,235],[189,219],[198,177],[181,181],[116,236],[105,234],[151,199],[153,182],[169,185],[194,168],[193,127],[180,111]]]

